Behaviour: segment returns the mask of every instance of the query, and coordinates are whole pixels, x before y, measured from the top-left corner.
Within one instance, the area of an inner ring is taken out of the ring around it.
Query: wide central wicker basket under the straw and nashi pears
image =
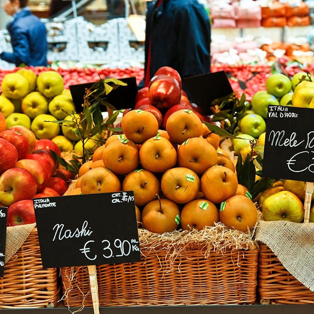
[[[212,253],[187,250],[165,272],[165,251],[142,252],[141,262],[97,266],[100,306],[253,304],[257,248]],[[169,263],[169,262],[168,262]],[[180,271],[178,271],[180,269]],[[61,268],[65,304],[92,306],[87,267]],[[71,280],[71,277],[73,280]]]

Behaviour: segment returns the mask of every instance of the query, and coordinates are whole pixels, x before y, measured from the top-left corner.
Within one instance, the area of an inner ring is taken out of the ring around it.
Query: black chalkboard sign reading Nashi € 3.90
[[[133,191],[33,199],[44,268],[141,260]]]

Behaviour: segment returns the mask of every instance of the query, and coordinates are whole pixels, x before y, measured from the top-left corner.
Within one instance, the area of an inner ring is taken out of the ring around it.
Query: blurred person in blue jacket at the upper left
[[[27,0],[4,0],[2,7],[12,18],[7,24],[13,53],[1,51],[0,58],[16,66],[47,66],[46,27],[26,7]]]

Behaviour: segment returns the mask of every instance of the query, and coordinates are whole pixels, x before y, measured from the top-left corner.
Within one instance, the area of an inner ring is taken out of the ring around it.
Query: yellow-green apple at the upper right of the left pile
[[[52,98],[63,92],[63,78],[55,71],[46,71],[37,78],[38,90],[47,98]]]

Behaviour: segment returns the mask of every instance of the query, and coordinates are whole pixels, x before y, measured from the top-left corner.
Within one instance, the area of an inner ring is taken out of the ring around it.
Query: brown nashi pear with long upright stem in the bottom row
[[[179,207],[166,198],[151,201],[143,209],[142,224],[154,233],[171,232],[180,225]]]

